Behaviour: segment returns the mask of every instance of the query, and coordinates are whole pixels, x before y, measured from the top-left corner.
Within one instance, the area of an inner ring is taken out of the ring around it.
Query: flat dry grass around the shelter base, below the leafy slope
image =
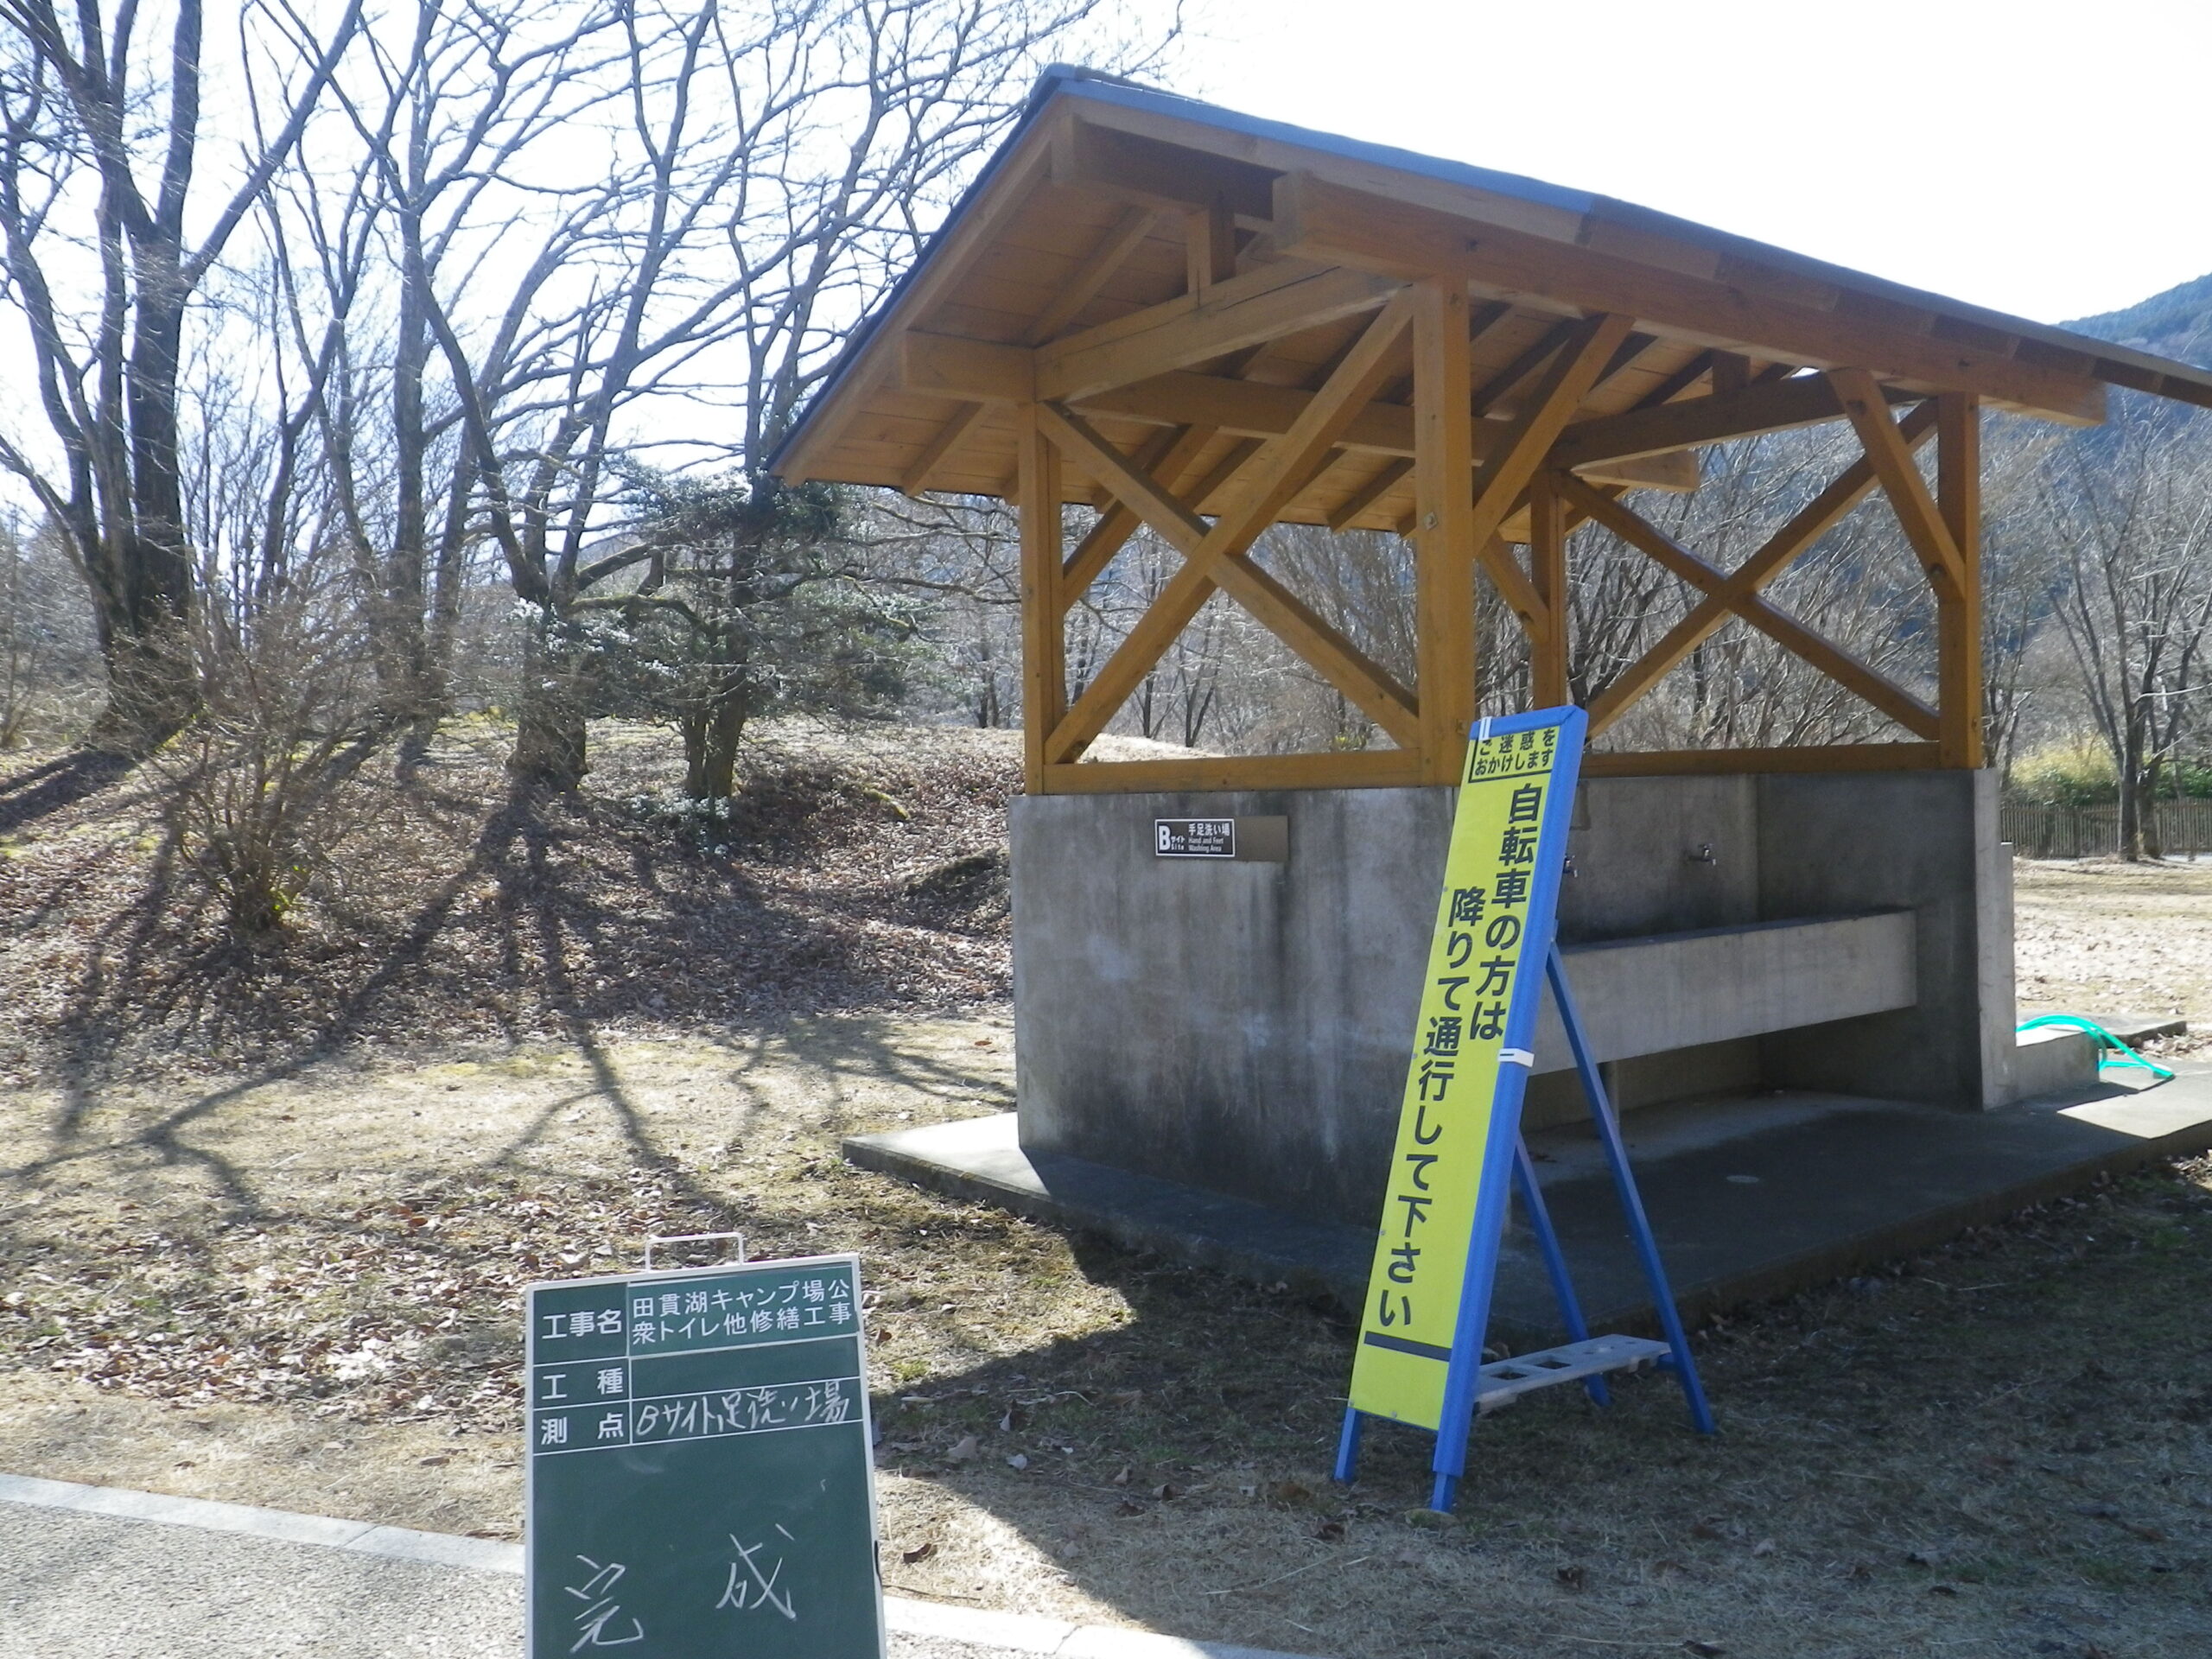
[[[1363,1659],[2212,1644],[2203,1166],[1708,1329],[1712,1442],[1655,1380],[1484,1422],[1436,1533],[1405,1520],[1416,1436],[1325,1480],[1332,1312],[836,1159],[1002,1106],[1006,1035],[810,1020],[15,1093],[0,1467],[511,1535],[515,1287],[741,1225],[867,1259],[887,1544],[936,1544],[889,1557],[914,1595]]]

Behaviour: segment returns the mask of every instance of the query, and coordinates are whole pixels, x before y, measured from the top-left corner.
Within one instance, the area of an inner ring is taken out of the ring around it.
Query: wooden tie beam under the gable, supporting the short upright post
[[[1037,347],[1037,396],[1073,403],[1383,305],[1402,283],[1296,259]]]

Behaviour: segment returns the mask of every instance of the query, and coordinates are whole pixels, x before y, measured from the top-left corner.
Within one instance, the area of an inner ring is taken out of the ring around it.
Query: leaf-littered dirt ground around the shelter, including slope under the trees
[[[102,858],[150,856],[124,810],[0,847],[0,1002],[46,975],[29,1013],[0,1006],[0,1469],[513,1537],[520,1285],[741,1228],[757,1256],[865,1259],[907,1595],[1338,1659],[2212,1652],[2212,1161],[1714,1321],[1712,1440],[1652,1378],[1604,1413],[1484,1420],[1458,1524],[1416,1524],[1416,1436],[1327,1482],[1336,1312],[838,1159],[845,1133],[1011,1104],[989,880],[938,891],[945,847],[907,841],[933,821],[973,856],[975,823],[894,761],[872,776],[907,816],[807,841],[803,805],[734,874],[613,796],[522,825],[442,931],[387,905],[449,1002],[484,940],[520,940],[484,995],[447,1018],[378,1000],[389,975],[276,964],[290,1040],[210,989],[204,951],[161,958],[186,987],[164,1022],[117,1024],[102,975],[128,958],[86,894]],[[639,916],[626,869],[653,878]],[[2208,885],[2022,867],[2024,1006],[2203,1015]],[[653,929],[712,905],[836,949],[801,980],[761,951],[622,1004]]]

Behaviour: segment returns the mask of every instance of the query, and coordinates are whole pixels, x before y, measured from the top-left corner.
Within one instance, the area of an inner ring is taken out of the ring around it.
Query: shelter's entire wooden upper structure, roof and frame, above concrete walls
[[[1624,201],[1064,69],[772,465],[1020,502],[1031,794],[1447,783],[1475,714],[1475,573],[1526,628],[1535,701],[1566,701],[1566,535],[1590,520],[1701,595],[1593,699],[1593,734],[1730,619],[1907,734],[1599,752],[1593,776],[1978,768],[1980,409],[2088,425],[2108,385],[2212,407],[2212,374],[2181,363]],[[1701,445],[1823,420],[1847,420],[1860,458],[1734,568],[1624,502],[1694,489]],[[1933,489],[1916,465],[1929,442]],[[1761,597],[1876,491],[1933,588],[1933,701]],[[1073,546],[1064,502],[1097,509]],[[1276,522],[1411,538],[1411,686],[1252,557]],[[1183,564],[1071,699],[1068,608],[1139,524]],[[1086,763],[1214,591],[1391,748]]]

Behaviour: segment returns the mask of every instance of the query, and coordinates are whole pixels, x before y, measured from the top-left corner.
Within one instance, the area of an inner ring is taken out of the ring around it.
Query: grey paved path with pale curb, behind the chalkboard
[[[891,1597],[891,1659],[1296,1659]],[[513,1659],[522,1551],[0,1475],[0,1659]]]

